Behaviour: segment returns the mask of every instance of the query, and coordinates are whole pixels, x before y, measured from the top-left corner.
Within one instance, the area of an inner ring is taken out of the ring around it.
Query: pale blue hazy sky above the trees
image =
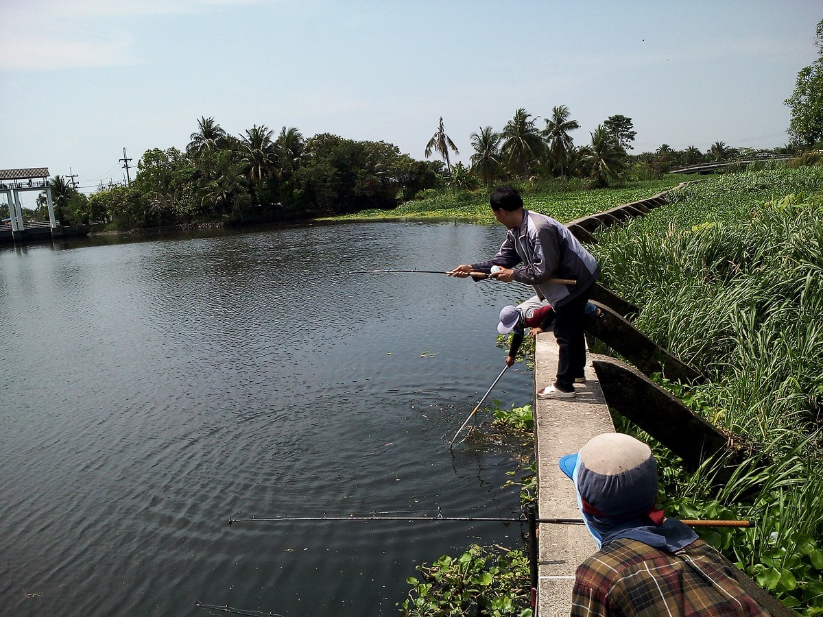
[[[635,152],[781,146],[821,18],[820,0],[2,0],[0,169],[89,192],[123,180],[123,147],[184,149],[201,116],[418,159],[442,116],[467,162],[472,132],[560,104],[577,145],[623,114]]]

